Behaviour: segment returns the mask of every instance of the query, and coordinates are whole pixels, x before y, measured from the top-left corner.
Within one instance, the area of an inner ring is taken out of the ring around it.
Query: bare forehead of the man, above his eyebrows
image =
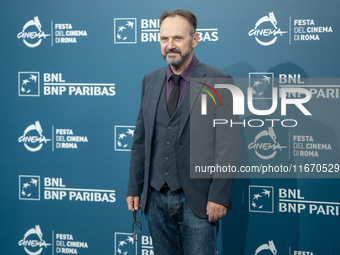
[[[182,16],[167,17],[163,20],[159,32],[161,36],[187,36],[190,35],[189,21]]]

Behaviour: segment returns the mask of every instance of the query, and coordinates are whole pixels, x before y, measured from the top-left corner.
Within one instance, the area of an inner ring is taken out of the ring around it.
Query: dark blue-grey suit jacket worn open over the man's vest
[[[141,103],[136,121],[136,129],[131,149],[128,196],[143,195],[142,209],[147,210],[149,189],[150,159],[155,116],[162,86],[166,79],[167,67],[160,68],[144,76]],[[231,209],[231,189],[233,175],[202,174],[190,178],[190,171],[195,166],[228,166],[235,165],[238,153],[238,128],[230,127],[232,115],[232,96],[228,89],[216,89],[222,99],[223,106],[215,106],[213,99],[207,98],[207,115],[201,115],[201,94],[206,83],[231,84],[229,74],[197,60],[190,79],[190,86],[183,105],[178,133],[178,169],[189,206],[196,215],[207,218],[207,201],[216,202]],[[205,87],[206,88],[206,87]],[[213,127],[213,119],[227,119],[227,125]],[[191,137],[191,139],[190,139]],[[222,178],[220,178],[222,177]]]

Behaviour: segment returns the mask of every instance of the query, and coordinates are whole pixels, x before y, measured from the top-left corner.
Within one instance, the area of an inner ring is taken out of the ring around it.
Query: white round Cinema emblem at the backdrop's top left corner
[[[45,40],[48,36],[51,35],[45,34],[42,30],[40,20],[38,16],[36,16],[32,20],[26,22],[21,32],[18,33],[17,38],[22,39],[27,47],[35,48],[38,47],[42,40]]]

